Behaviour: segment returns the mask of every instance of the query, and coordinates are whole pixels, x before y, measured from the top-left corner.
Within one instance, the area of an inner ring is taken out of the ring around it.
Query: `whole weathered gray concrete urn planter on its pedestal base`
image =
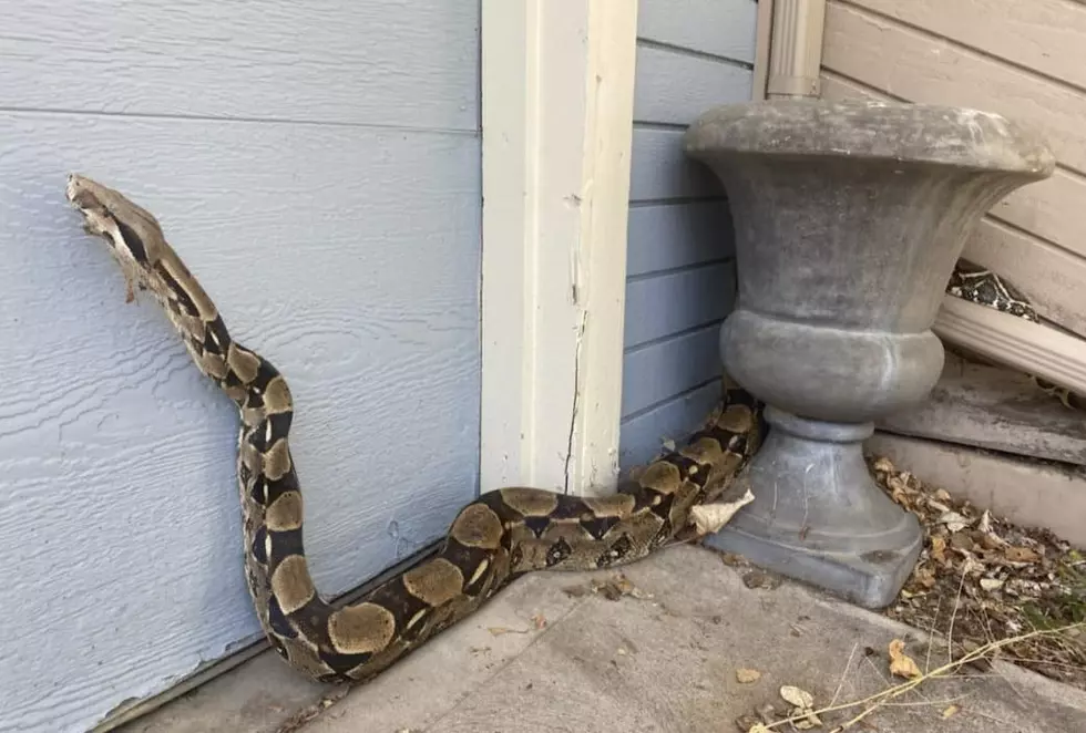
[[[754,503],[708,543],[885,606],[922,534],[862,442],[928,396],[943,365],[930,329],[966,236],[1053,156],[994,114],[821,100],[721,106],[684,144],[728,194],[739,289],[720,352],[770,425]]]

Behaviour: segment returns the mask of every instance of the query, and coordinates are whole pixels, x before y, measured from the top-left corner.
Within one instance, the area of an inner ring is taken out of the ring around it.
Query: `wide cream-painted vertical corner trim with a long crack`
[[[636,32],[632,0],[482,0],[482,492],[617,481]]]

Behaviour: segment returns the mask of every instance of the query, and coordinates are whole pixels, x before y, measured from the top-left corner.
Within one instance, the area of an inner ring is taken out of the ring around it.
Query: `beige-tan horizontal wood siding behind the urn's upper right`
[[[1086,337],[1086,4],[830,0],[822,90],[996,112],[1046,136],[1052,178],[997,204],[965,256]]]

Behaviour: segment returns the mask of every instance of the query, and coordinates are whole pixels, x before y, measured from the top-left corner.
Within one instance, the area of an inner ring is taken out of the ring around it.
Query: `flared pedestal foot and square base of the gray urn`
[[[755,500],[705,543],[858,606],[890,605],[916,565],[923,531],[871,478],[862,445],[873,425],[772,406],[766,420],[766,443],[738,478]]]

